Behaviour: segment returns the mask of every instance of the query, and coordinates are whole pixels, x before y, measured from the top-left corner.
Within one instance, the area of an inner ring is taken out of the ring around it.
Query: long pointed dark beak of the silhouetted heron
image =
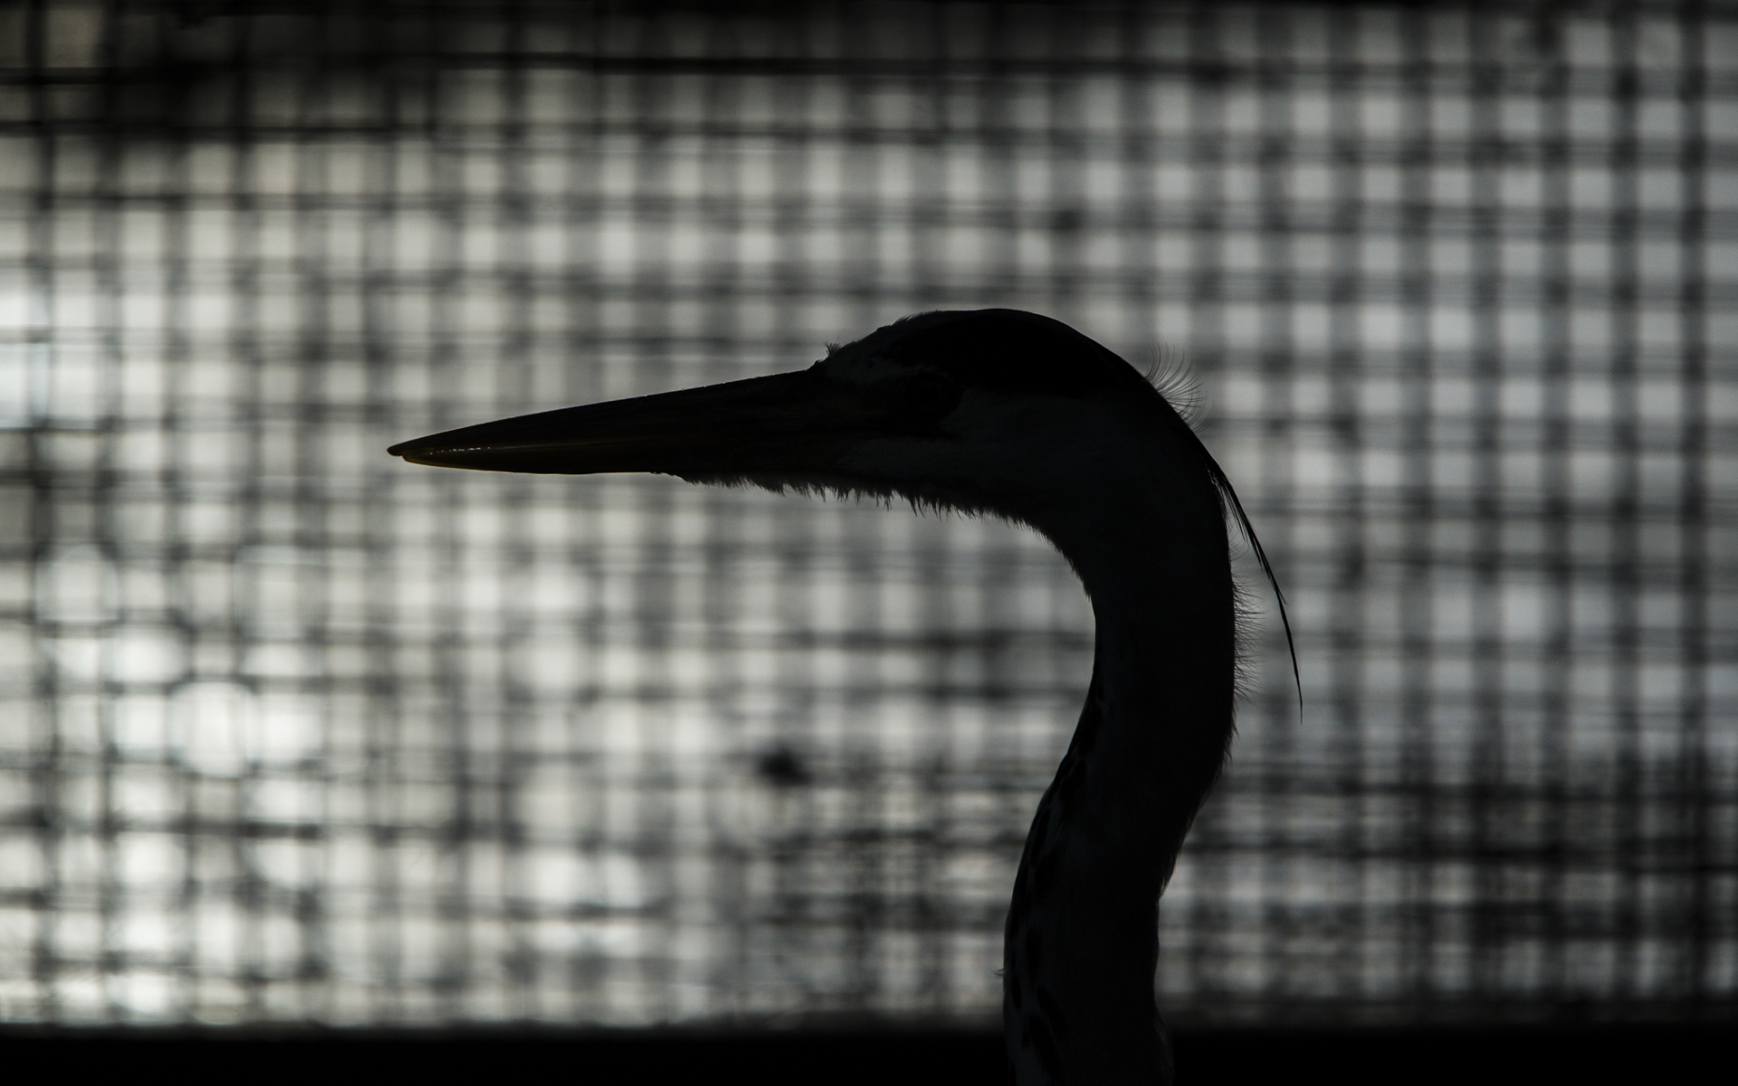
[[[568,407],[415,438],[412,464],[537,474],[758,473],[826,467],[883,410],[815,370]]]

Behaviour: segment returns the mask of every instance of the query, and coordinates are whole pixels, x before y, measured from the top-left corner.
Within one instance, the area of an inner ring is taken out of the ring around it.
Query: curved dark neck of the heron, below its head
[[[1133,480],[1114,502],[1088,497],[1046,533],[1093,599],[1097,648],[1008,914],[1010,1056],[1020,1086],[1164,1083],[1158,898],[1232,730],[1224,521],[1203,473]]]

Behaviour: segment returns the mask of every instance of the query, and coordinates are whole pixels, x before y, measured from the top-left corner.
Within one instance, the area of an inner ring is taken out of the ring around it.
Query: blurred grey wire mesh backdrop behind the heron
[[[991,1020],[1090,672],[1041,540],[384,454],[949,306],[1184,354],[1291,594],[1173,1020],[1733,1006],[1733,7],[14,3],[0,66],[0,1016]]]

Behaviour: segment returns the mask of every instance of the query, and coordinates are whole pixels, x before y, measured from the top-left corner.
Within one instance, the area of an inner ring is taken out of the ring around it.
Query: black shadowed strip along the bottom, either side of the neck
[[[1729,1055],[1729,1025],[1606,1025],[1500,1030],[1180,1030],[1180,1083],[1274,1083],[1300,1069],[1337,1083],[1646,1083],[1691,1081]],[[499,1081],[527,1072],[572,1081],[890,1083],[1001,1086],[1001,1034],[805,1032],[699,1034],[520,1030],[0,1030],[14,1055],[64,1074],[146,1069],[177,1074],[431,1074]],[[31,1044],[33,1043],[33,1044]]]

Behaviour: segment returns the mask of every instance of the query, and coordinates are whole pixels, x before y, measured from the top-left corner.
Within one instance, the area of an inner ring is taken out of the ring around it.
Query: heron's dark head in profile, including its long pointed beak
[[[977,309],[900,320],[806,370],[520,415],[389,452],[441,467],[904,497],[1048,530],[1046,509],[1126,459],[1118,438],[1206,452],[1109,349],[1048,316]]]

